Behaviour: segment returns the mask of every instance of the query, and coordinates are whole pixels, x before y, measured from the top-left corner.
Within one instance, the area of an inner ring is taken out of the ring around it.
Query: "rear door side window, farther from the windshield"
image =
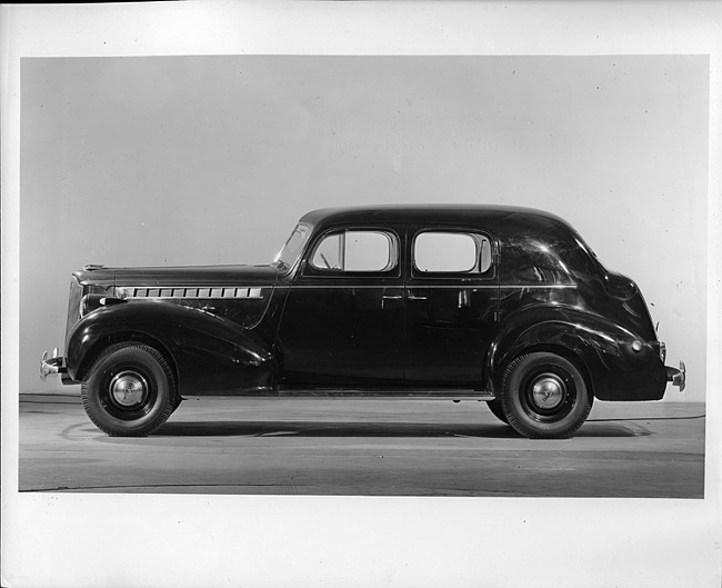
[[[422,273],[484,273],[491,268],[491,242],[472,232],[425,231],[414,239],[413,262]]]

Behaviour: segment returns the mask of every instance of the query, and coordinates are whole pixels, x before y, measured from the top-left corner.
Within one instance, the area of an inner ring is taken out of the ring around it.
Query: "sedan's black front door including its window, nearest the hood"
[[[281,383],[403,381],[401,229],[332,229],[310,245],[279,328]]]

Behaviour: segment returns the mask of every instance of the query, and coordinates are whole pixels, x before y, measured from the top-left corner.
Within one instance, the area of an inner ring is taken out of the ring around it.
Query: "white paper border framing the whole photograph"
[[[719,586],[720,4],[187,2],[0,10],[3,586]],[[20,60],[253,53],[709,54],[705,499],[19,494]]]

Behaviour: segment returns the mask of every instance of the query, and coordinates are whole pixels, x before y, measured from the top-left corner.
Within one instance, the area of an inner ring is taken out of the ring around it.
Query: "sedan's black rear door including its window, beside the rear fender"
[[[413,227],[407,282],[407,383],[484,387],[499,287],[492,239]]]

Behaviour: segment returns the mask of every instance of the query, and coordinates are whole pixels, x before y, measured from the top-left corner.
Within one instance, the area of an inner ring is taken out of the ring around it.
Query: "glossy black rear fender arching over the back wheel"
[[[639,350],[634,341],[641,343]],[[492,387],[500,390],[503,372],[514,358],[552,351],[581,363],[600,400],[659,400],[666,375],[654,343],[604,317],[570,308],[534,309],[508,321],[492,341],[485,368]]]

